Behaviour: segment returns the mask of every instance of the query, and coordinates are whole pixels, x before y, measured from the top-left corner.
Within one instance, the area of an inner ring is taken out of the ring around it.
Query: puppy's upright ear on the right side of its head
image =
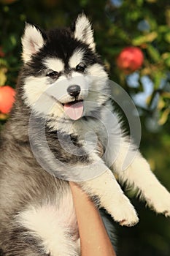
[[[81,14],[75,22],[74,37],[82,42],[85,42],[91,50],[95,51],[95,43],[93,39],[93,29],[91,28],[90,20]]]

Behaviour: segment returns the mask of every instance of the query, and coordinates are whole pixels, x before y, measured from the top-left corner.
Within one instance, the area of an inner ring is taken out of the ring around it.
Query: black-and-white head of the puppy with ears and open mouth
[[[107,72],[95,52],[93,30],[85,15],[74,29],[41,31],[26,24],[23,44],[23,99],[31,110],[77,120],[107,97]]]

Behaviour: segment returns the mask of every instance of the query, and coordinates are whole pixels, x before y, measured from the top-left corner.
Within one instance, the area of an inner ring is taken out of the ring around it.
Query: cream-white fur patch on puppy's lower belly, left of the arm
[[[71,197],[72,195],[68,198]],[[69,200],[69,203],[72,205],[72,200]],[[73,232],[76,228],[75,222],[74,209],[70,206],[30,206],[16,217],[16,224],[27,230],[23,237],[27,235],[39,239],[39,247],[45,255],[51,256],[80,255],[79,239]]]

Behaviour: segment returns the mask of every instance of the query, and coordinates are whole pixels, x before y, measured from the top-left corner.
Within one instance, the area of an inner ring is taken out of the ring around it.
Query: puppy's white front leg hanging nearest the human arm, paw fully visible
[[[100,176],[79,184],[89,196],[96,195],[100,200],[100,206],[104,207],[120,225],[131,226],[138,222],[134,206],[123,194],[109,169]]]

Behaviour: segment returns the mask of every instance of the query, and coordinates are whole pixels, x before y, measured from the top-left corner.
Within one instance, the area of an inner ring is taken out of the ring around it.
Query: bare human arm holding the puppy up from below
[[[116,256],[98,209],[77,184],[69,184],[79,227],[81,256]]]

